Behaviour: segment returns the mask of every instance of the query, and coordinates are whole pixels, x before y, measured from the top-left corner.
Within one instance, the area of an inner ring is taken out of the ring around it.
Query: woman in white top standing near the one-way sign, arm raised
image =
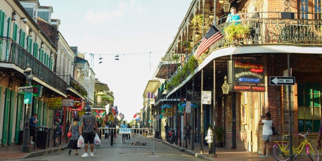
[[[272,126],[274,126],[273,120],[271,119],[271,113],[267,112],[262,116],[258,122],[258,125],[263,125],[263,155],[259,157],[270,157],[270,154],[266,154],[266,145],[268,146],[269,153],[272,151],[273,146],[271,145],[272,141]]]

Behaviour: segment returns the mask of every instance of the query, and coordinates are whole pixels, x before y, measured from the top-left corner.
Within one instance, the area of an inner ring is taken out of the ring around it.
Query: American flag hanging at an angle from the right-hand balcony
[[[212,26],[204,36],[202,42],[198,46],[194,56],[198,58],[202,53],[204,53],[210,46],[212,46],[220,38],[224,37],[222,33],[215,27]]]

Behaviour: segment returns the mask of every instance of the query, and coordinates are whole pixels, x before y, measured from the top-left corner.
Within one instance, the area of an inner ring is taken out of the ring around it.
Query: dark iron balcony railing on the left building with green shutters
[[[0,37],[0,43],[2,47],[2,50],[0,50],[2,51],[0,53],[0,62],[14,64],[23,70],[30,65],[35,76],[55,89],[66,93],[66,82],[64,79],[50,70],[26,49],[8,37]]]

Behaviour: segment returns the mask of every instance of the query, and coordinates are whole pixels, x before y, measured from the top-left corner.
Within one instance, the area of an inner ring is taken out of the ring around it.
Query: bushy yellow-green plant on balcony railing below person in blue
[[[249,25],[242,24],[231,24],[224,28],[225,38],[230,43],[234,42],[235,39],[245,39],[250,35],[251,28]]]

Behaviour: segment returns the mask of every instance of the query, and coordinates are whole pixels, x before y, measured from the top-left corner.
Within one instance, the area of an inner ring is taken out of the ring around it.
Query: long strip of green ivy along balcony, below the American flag
[[[191,56],[188,63],[183,66],[183,68],[171,79],[169,83],[166,84],[166,89],[172,89],[178,86],[184,78],[186,78],[190,73],[194,72],[198,61],[194,56]]]

